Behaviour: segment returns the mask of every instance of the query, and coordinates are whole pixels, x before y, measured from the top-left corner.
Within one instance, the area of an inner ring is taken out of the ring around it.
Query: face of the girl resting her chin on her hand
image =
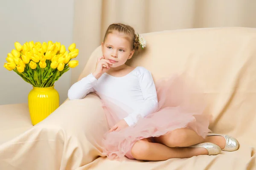
[[[131,38],[118,31],[109,33],[105,42],[102,42],[102,54],[113,63],[110,65],[112,68],[125,64],[134,54],[134,50],[131,50]]]

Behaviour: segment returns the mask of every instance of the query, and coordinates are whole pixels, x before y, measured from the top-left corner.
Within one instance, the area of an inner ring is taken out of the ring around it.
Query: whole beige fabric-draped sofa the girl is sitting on
[[[256,169],[256,29],[204,28],[143,34],[147,47],[129,61],[154,80],[183,73],[202,86],[210,129],[230,134],[239,150],[167,161],[111,161],[99,145],[108,125],[93,94],[64,102],[32,127],[26,104],[0,106],[0,170]],[[98,47],[79,79],[95,68]],[[81,57],[81,56],[80,56]]]

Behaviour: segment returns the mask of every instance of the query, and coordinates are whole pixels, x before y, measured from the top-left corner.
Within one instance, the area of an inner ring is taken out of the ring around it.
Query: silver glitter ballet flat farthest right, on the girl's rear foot
[[[225,145],[224,149],[222,149],[224,151],[232,152],[232,151],[238,150],[239,143],[232,136],[221,135],[221,134],[216,134],[216,133],[209,133],[207,136],[223,136],[226,140],[226,145]]]

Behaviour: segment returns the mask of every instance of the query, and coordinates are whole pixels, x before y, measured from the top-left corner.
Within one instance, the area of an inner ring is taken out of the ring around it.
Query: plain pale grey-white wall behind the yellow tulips
[[[32,85],[3,68],[14,42],[73,41],[73,0],[0,0],[0,105],[27,103]],[[71,70],[55,82],[60,104],[67,98]]]

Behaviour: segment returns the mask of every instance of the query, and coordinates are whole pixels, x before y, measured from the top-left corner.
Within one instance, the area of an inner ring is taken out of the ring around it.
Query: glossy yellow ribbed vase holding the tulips
[[[29,92],[28,103],[32,125],[36,125],[58,108],[58,91],[54,86],[49,88],[33,87]]]

